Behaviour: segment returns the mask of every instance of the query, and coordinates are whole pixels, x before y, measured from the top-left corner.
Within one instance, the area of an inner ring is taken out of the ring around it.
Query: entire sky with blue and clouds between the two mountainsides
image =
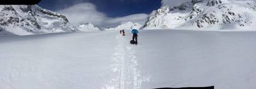
[[[65,15],[71,24],[109,28],[127,22],[145,24],[152,11],[191,0],[42,0],[38,5]]]

